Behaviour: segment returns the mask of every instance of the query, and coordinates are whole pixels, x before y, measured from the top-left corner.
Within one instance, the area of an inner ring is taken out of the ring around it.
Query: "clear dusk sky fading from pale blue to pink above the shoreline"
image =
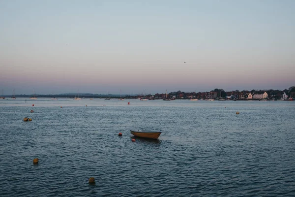
[[[0,0],[0,89],[288,89],[294,10],[295,0]]]

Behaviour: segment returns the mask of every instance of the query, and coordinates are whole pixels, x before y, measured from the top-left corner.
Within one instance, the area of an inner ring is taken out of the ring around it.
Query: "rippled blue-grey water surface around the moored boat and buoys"
[[[17,98],[0,120],[1,197],[295,196],[295,101]]]

